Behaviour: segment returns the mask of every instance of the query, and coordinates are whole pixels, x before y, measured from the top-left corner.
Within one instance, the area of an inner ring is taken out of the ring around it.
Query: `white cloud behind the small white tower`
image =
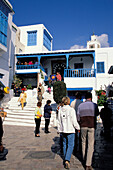
[[[96,36],[96,37],[97,40],[100,42],[101,47],[109,47],[107,34],[101,34],[100,36]]]

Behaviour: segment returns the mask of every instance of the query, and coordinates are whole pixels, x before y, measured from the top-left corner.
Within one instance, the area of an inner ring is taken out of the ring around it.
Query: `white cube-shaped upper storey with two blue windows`
[[[43,24],[19,27],[20,42],[25,45],[25,53],[52,51],[53,37]]]

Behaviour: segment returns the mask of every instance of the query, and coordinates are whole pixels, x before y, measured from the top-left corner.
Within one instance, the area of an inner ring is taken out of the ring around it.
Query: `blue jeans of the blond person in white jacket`
[[[75,133],[62,133],[64,160],[70,161],[74,149]]]

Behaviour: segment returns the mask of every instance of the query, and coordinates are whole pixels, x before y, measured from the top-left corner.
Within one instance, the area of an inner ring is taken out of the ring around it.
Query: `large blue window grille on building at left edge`
[[[7,46],[8,17],[0,10],[0,43]]]

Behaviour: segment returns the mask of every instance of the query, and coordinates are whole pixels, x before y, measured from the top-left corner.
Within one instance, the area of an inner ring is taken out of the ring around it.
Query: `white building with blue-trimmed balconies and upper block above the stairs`
[[[42,24],[20,27],[20,30],[20,40],[25,45],[25,51],[16,54],[17,60],[21,63],[36,61],[36,59],[38,61],[38,65],[17,65],[16,74],[23,80],[23,85],[31,84],[37,87],[40,81],[40,70],[45,70],[48,77],[59,71],[71,100],[75,98],[76,91],[81,91],[82,98],[87,91],[91,91],[93,101],[96,102],[95,90],[105,89],[112,84],[113,74],[108,72],[113,65],[113,47],[100,48],[101,45],[95,35],[92,35],[91,41],[87,42],[87,49],[48,51],[44,47],[44,41],[47,39],[47,37],[44,39],[44,30],[46,35],[51,37],[49,41],[51,46],[52,36]],[[36,32],[37,36],[35,36]],[[35,38],[29,38],[30,34]],[[28,39],[31,40],[30,43]]]

